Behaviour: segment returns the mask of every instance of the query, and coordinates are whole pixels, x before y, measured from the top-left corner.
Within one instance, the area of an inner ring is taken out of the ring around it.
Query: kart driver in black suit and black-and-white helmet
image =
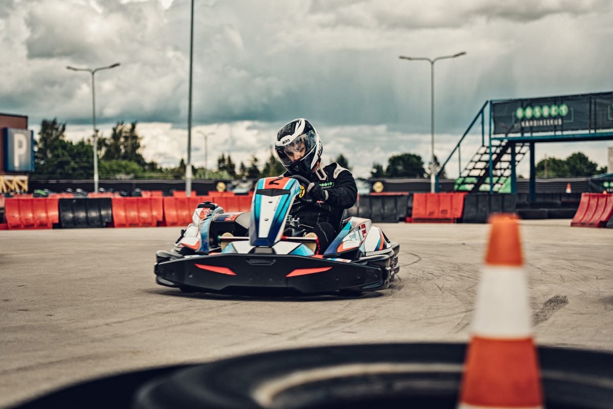
[[[319,252],[323,253],[340,231],[343,212],[356,203],[356,180],[337,162],[322,165],[321,139],[304,118],[295,119],[280,129],[275,150],[287,170],[283,176],[300,175],[309,182],[303,186],[305,191],[300,192],[289,213],[299,218],[301,227],[307,232],[317,235]],[[310,197],[311,201],[301,201],[300,197]]]

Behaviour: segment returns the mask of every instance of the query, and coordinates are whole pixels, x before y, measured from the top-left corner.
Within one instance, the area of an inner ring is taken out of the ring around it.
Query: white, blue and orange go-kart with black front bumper
[[[289,215],[294,200],[312,201],[306,179],[257,182],[251,212],[224,213],[204,202],[170,251],[156,253],[159,285],[194,292],[285,289],[298,294],[359,294],[389,286],[400,245],[365,218],[343,220],[327,248]]]

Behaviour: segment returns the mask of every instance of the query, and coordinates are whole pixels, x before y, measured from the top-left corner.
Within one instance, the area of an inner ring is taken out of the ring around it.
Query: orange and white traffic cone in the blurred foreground
[[[458,407],[543,408],[519,226],[512,215],[490,223]]]

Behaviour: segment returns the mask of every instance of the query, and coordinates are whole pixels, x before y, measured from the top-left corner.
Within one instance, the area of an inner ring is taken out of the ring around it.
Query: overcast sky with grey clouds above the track
[[[187,156],[189,0],[1,0],[0,112],[97,128],[137,121],[147,160]],[[452,55],[435,64],[435,153],[447,158],[489,99],[613,91],[611,0],[196,0],[192,163],[268,157],[276,131],[311,120],[324,159],[343,153],[356,176],[390,155],[430,157],[430,64],[398,56]],[[487,123],[487,121],[486,121]],[[485,130],[487,134],[487,129]],[[205,155],[208,135],[208,155]],[[462,161],[481,142],[474,129]],[[613,141],[541,143],[536,158],[583,151],[606,166]],[[524,163],[525,162],[525,163]],[[527,173],[527,160],[520,173]],[[463,163],[462,163],[463,167]],[[452,159],[447,174],[459,164]]]

